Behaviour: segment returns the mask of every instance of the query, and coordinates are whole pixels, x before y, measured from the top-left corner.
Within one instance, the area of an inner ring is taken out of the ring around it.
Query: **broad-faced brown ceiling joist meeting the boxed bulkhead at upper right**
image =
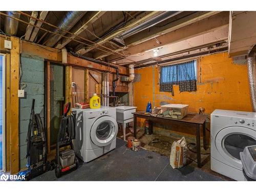
[[[195,22],[193,24],[179,28],[175,31],[158,36],[157,39],[161,42],[161,45],[159,45],[157,41],[153,38],[151,40],[144,41],[134,47],[128,48],[125,51],[129,52],[131,55],[142,53],[147,50],[156,49],[161,46],[172,44],[186,38],[207,33],[228,24],[229,12],[221,12],[208,18],[199,20],[198,22]],[[106,58],[108,61],[114,61],[119,59],[117,56],[112,55]]]

